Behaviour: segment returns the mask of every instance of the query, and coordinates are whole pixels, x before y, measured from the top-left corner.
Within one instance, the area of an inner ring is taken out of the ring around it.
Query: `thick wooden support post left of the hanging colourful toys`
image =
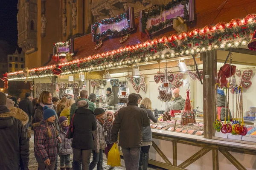
[[[217,51],[201,53],[203,57],[204,138],[212,139],[216,115],[214,85],[217,80]]]

